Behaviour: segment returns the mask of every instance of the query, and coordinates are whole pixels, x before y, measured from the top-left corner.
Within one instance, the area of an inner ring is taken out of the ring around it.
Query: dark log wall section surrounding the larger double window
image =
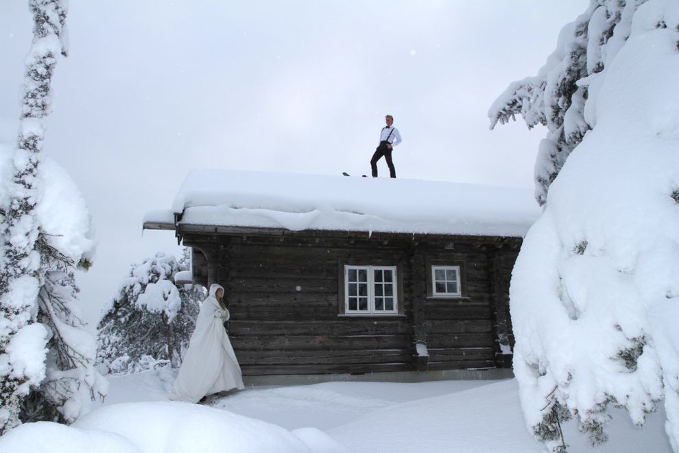
[[[232,237],[224,249],[229,334],[244,374],[411,369],[409,304],[403,316],[339,316],[344,264],[402,266],[403,244]]]

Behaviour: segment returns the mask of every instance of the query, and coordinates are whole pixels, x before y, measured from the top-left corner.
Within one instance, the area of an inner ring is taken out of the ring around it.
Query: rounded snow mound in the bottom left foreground
[[[126,403],[95,410],[67,427],[26,423],[0,439],[0,452],[346,453],[314,428],[279,426],[199,404]]]

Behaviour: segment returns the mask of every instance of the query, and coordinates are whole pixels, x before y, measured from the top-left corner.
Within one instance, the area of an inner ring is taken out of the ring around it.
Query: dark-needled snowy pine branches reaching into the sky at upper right
[[[587,10],[565,25],[538,75],[512,82],[490,107],[490,128],[521,114],[529,129],[547,126],[535,163],[540,206],[564,162],[593,125],[584,119],[589,75],[606,69],[630,34],[632,14],[645,0],[590,0]],[[624,20],[623,20],[624,16]],[[622,23],[621,23],[622,21]],[[615,30],[615,39],[610,40]]]

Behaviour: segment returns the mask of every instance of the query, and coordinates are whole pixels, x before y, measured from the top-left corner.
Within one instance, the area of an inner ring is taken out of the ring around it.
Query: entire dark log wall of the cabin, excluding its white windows
[[[502,317],[507,310],[494,304],[505,297],[515,253],[500,253],[497,240],[456,240],[452,250],[449,242],[410,235],[184,237],[185,245],[217,256],[211,283],[226,288],[229,335],[245,375],[504,366],[496,359],[498,332],[511,326]],[[427,294],[432,263],[461,266],[462,297]],[[344,264],[398,266],[401,313],[340,315]],[[428,357],[418,356],[416,342]]]

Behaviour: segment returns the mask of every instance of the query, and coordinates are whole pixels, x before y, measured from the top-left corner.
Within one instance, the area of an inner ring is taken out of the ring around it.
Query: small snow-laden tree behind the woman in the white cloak
[[[181,364],[205,298],[202,286],[175,285],[174,275],[188,269],[188,249],[179,262],[161,252],[132,264],[97,328],[102,371],[135,373]]]

